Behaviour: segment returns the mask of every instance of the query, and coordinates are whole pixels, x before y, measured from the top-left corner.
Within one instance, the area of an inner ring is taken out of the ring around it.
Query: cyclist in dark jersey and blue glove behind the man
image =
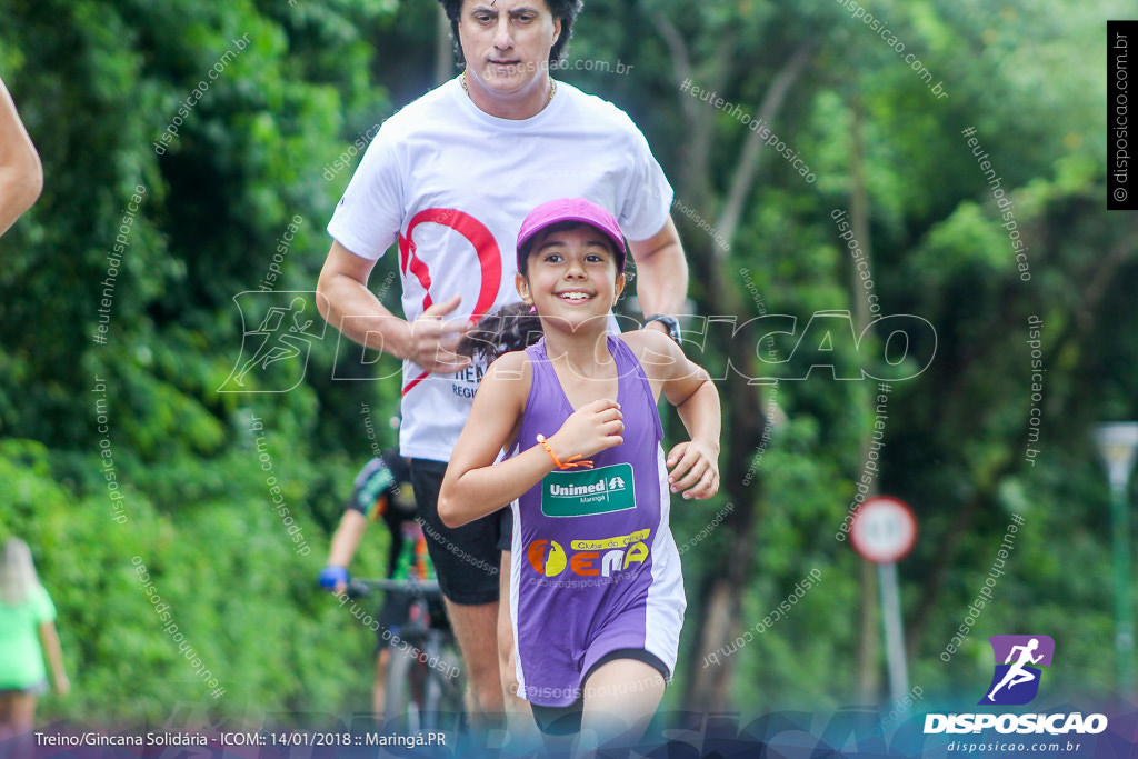
[[[368,523],[384,520],[391,535],[388,552],[387,576],[390,579],[431,579],[435,569],[427,556],[427,539],[422,527],[415,521],[415,498],[411,489],[411,471],[407,460],[395,448],[384,452],[369,461],[356,476],[352,495],[344,509],[339,527],[332,535],[328,554],[328,566],[320,572],[320,585],[337,595],[348,586],[348,564],[360,547]],[[379,630],[376,642],[376,682],[372,685],[371,703],[377,718],[384,716],[385,682],[391,658],[391,642],[398,640],[399,626],[407,619],[413,596],[405,592],[388,591],[384,594],[377,619]],[[432,619],[442,620],[445,613],[431,604]],[[384,630],[390,630],[385,636]],[[386,641],[385,641],[386,637]]]

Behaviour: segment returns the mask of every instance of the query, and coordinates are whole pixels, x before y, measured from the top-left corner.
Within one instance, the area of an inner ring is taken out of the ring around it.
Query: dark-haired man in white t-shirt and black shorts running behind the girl
[[[368,148],[328,225],[335,242],[318,304],[348,338],[403,360],[399,451],[412,460],[467,663],[471,718],[485,724],[502,712],[503,683],[513,676],[506,604],[498,618],[510,554],[508,543],[498,547],[497,514],[457,529],[438,519],[438,487],[485,369],[453,349],[472,317],[519,299],[513,242],[526,214],[546,200],[585,197],[617,216],[641,305],[655,316],[650,328],[675,327],[687,264],[669,215],[671,188],[644,135],[616,106],[549,75],[580,0],[440,2],[465,71],[391,116]],[[395,242],[405,319],[366,287]],[[505,706],[525,710],[511,695]]]

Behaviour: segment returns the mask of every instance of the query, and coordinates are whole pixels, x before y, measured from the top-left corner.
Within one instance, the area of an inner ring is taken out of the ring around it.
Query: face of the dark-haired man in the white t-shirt
[[[561,34],[545,0],[464,0],[459,42],[470,75],[490,93],[523,94],[544,82]]]

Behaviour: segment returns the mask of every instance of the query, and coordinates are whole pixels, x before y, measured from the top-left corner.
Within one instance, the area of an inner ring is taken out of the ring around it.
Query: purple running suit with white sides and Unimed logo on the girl
[[[592,456],[592,469],[554,470],[513,505],[520,694],[544,706],[572,703],[589,667],[618,649],[646,649],[674,667],[683,621],[660,414],[632,349],[613,335],[608,346],[624,443]],[[537,445],[538,434],[552,436],[572,413],[545,341],[526,353],[533,385],[510,455]]]

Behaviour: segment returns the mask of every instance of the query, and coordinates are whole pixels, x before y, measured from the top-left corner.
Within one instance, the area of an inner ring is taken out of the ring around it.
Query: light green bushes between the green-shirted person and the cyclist
[[[305,525],[300,535],[312,546],[299,555],[254,461],[253,452],[234,452],[165,472],[191,485],[178,509],[124,482],[119,522],[108,489],[76,498],[51,480],[42,445],[5,443],[0,535],[34,546],[74,684],[67,700],[49,701],[52,713],[162,721],[179,701],[204,701],[217,712],[226,704],[358,710],[360,688],[341,687],[341,676],[368,660],[372,634],[315,589],[328,536],[305,508],[311,493],[289,477],[290,515]],[[351,473],[336,471],[340,482],[351,482]],[[221,498],[201,494],[205,478],[217,478]],[[378,566],[374,550],[361,562]],[[195,657],[201,663],[191,666]],[[220,700],[209,677],[224,688]],[[124,683],[131,699],[121,698]]]

